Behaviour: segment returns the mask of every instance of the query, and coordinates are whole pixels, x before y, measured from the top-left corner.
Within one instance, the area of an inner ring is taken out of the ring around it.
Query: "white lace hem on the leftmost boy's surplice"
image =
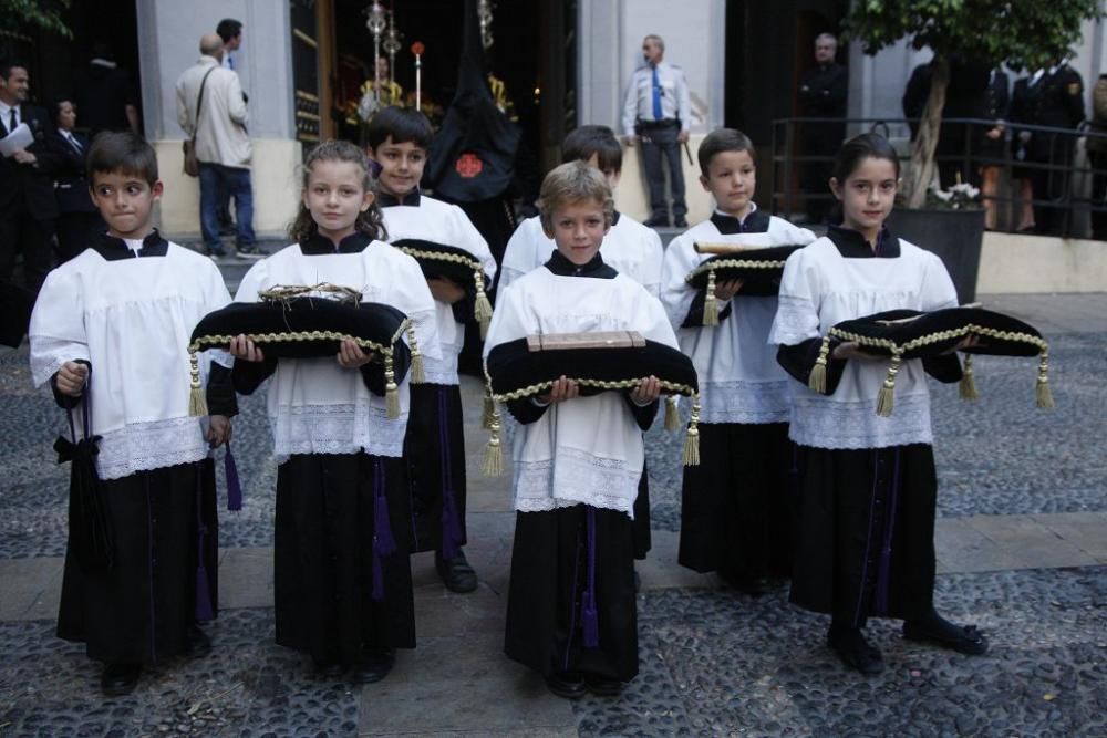
[[[118,430],[97,435],[102,436],[96,456],[101,479],[122,479],[137,471],[192,464],[208,454],[200,420],[195,417],[128,423]]]

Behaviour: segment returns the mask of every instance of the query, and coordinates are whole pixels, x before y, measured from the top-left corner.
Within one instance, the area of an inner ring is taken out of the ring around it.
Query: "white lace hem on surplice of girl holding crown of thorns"
[[[407,414],[392,419],[384,407],[359,399],[281,407],[276,416],[270,415],[269,423],[273,455],[279,459],[292,454],[355,454],[361,449],[375,456],[399,457],[403,455]]]

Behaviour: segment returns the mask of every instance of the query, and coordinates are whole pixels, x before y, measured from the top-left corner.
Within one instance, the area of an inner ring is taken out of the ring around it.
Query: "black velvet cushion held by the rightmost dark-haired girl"
[[[983,308],[948,308],[929,313],[889,310],[842,321],[830,329],[830,335],[856,341],[863,350],[881,355],[899,350],[903,358],[938,356],[966,335],[980,340],[980,345],[964,350],[970,354],[1036,356],[1045,349],[1042,334],[1033,325]]]

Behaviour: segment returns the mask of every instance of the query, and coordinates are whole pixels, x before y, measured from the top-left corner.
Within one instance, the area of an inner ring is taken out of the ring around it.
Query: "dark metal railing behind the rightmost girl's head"
[[[827,212],[834,204],[826,184],[838,149],[834,142],[866,131],[892,142],[906,177],[911,158],[909,128],[915,124],[918,119],[907,118],[774,121],[773,212],[785,217]],[[1027,208],[1033,207],[1038,232],[1107,239],[1107,134],[1089,131],[1087,123],[1074,129],[1006,122],[999,139],[986,139],[984,133],[995,127],[995,121],[982,118],[942,122],[935,160],[943,187],[952,184],[955,174],[980,187],[981,170],[995,167],[995,190],[981,193],[993,211],[993,230],[1025,230],[1021,226],[1028,225]],[[1103,146],[1104,153],[1089,154],[1088,142]],[[1023,179],[1031,183],[1030,193],[1023,190]]]

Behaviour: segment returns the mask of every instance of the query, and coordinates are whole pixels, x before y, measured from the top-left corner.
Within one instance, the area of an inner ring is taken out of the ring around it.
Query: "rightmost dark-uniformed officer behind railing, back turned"
[[[1041,80],[1041,92],[1034,103],[1034,122],[1037,125],[1075,129],[1084,121],[1084,80],[1076,70],[1061,62]],[[1031,138],[1030,154],[1034,162],[1064,167],[1038,170],[1035,176],[1035,196],[1053,205],[1035,207],[1034,220],[1039,232],[1052,236],[1068,232],[1070,218],[1065,199],[1075,143],[1075,135],[1062,133],[1039,132]]]

